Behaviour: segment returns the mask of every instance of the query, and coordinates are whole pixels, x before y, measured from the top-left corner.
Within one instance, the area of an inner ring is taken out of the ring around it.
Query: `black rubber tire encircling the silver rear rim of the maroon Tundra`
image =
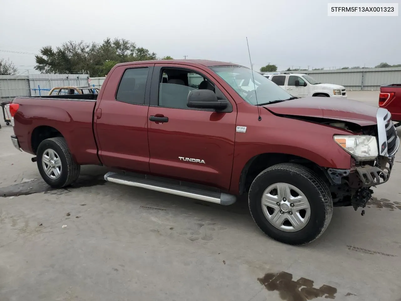
[[[54,150],[61,161],[61,173],[57,179],[51,179],[43,169],[42,157],[43,152],[47,149]],[[55,137],[43,140],[36,151],[36,163],[38,165],[39,173],[43,180],[53,188],[61,188],[70,185],[76,181],[81,171],[81,166],[78,165],[70,153],[67,142],[63,137]]]

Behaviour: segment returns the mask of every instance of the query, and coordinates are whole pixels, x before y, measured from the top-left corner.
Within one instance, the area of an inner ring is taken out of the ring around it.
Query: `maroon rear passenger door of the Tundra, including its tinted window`
[[[147,127],[153,65],[119,66],[109,75],[95,109],[99,156],[107,167],[149,172]]]

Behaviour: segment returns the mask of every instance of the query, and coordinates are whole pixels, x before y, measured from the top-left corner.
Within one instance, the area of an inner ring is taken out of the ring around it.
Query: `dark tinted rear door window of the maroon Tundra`
[[[144,104],[148,73],[149,67],[126,69],[115,99],[130,104]]]

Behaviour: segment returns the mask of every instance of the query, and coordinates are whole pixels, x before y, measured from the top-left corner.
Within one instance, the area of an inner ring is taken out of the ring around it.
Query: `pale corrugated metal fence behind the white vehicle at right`
[[[381,85],[401,83],[401,67],[284,72],[305,73],[321,83],[342,85],[348,90],[380,90]]]

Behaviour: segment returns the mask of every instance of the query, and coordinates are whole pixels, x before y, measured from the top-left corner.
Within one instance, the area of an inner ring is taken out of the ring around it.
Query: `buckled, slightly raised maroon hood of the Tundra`
[[[352,122],[359,126],[377,124],[377,107],[356,100],[304,97],[263,106],[273,114],[307,116]]]

